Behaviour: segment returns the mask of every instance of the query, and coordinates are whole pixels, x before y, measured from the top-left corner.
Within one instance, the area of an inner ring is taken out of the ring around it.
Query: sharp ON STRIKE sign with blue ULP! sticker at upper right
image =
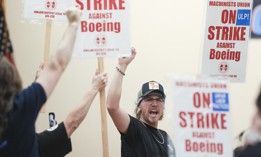
[[[252,0],[208,0],[202,74],[243,82]]]

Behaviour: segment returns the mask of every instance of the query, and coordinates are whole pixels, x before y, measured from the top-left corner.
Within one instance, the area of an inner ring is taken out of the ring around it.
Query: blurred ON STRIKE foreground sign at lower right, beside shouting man
[[[173,79],[172,90],[177,157],[232,157],[228,81]]]

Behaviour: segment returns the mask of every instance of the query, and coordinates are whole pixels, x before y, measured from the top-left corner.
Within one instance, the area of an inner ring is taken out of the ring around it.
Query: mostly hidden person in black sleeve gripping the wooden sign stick
[[[42,70],[43,64],[37,70],[36,79],[41,75]],[[64,122],[57,124],[53,119],[56,125],[36,134],[40,157],[64,157],[72,151],[71,136],[86,117],[97,93],[105,88],[107,81],[107,74],[99,74],[96,70],[91,88],[78,102],[77,107],[67,115]]]

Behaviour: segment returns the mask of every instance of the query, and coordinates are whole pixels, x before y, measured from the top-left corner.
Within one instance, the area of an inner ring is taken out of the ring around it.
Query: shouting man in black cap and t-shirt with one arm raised
[[[121,134],[121,156],[174,157],[175,149],[169,135],[158,129],[166,98],[160,83],[149,81],[142,85],[136,101],[136,118],[120,107],[123,77],[135,56],[136,50],[132,48],[129,57],[118,59],[106,102],[108,112]]]

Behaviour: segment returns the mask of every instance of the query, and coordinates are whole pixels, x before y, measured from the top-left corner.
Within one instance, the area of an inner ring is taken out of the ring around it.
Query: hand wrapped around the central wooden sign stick
[[[99,74],[99,71],[97,69],[95,75],[92,78],[92,88],[100,91],[107,85],[107,82],[108,82],[107,73]]]

